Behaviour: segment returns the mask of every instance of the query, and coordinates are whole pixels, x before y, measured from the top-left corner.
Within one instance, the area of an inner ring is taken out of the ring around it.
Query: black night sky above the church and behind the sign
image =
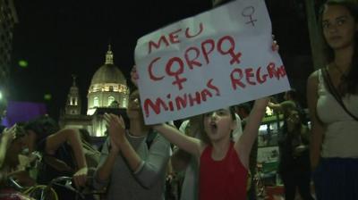
[[[280,52],[309,54],[302,4],[297,4],[294,12],[274,5],[268,4],[268,11]],[[139,37],[207,11],[211,2],[15,0],[15,6],[19,23],[13,35],[10,100],[46,103],[49,114],[57,119],[72,86],[72,74],[77,75],[82,113],[86,112],[90,79],[105,63],[108,43],[115,54],[115,65],[129,77]],[[291,17],[283,20],[286,14]],[[305,42],[287,37],[294,34],[300,34]],[[21,60],[27,61],[28,67],[21,68]],[[52,96],[50,100],[44,100],[46,94]]]

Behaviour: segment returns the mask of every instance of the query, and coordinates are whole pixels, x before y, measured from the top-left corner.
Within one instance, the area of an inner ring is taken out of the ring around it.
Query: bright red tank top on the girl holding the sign
[[[247,170],[230,143],[221,161],[211,158],[212,146],[207,146],[200,156],[200,200],[245,200]]]

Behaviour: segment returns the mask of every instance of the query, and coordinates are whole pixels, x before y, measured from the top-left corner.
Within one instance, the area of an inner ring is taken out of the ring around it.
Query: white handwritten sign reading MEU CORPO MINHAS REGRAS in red
[[[141,37],[135,62],[146,124],[289,90],[271,46],[262,0],[236,0]]]

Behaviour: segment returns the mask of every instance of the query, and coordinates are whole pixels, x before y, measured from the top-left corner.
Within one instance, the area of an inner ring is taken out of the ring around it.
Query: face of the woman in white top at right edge
[[[342,5],[327,5],[322,16],[323,35],[334,50],[354,46],[357,21]]]

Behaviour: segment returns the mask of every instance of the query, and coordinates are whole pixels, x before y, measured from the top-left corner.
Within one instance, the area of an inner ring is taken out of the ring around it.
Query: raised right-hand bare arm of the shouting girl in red
[[[251,147],[258,137],[260,123],[262,117],[266,111],[266,105],[268,104],[268,98],[261,98],[255,101],[253,108],[250,112],[250,116],[247,120],[245,129],[243,129],[243,135],[235,142],[234,148],[239,154],[240,161],[246,168],[249,167],[249,157]]]

